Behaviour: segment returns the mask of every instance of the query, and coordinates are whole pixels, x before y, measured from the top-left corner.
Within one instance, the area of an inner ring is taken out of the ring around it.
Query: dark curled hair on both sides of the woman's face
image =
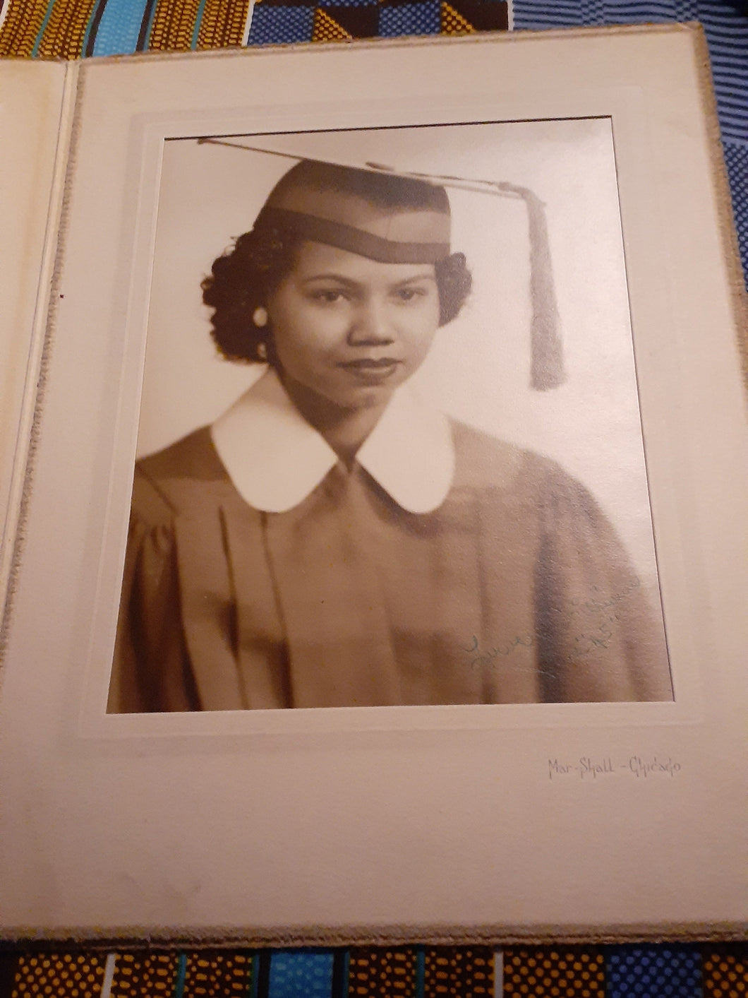
[[[213,309],[211,335],[227,360],[260,361],[260,344],[273,363],[272,337],[258,328],[253,314],[293,269],[296,250],[303,242],[295,233],[275,228],[253,229],[213,260],[202,281],[202,300]],[[465,254],[452,253],[435,264],[439,288],[439,324],[455,318],[473,285]]]

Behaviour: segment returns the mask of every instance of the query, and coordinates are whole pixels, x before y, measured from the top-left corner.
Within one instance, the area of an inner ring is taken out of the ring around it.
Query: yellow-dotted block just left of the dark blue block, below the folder
[[[604,958],[589,947],[508,947],[504,951],[504,995],[604,998]]]

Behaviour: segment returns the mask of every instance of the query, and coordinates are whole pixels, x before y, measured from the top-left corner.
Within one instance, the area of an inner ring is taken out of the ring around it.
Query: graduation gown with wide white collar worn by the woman
[[[254,434],[229,475],[237,417],[137,465],[110,712],[672,698],[661,619],[559,464],[445,421],[434,470],[409,413],[349,469],[273,377],[249,395],[292,446]]]

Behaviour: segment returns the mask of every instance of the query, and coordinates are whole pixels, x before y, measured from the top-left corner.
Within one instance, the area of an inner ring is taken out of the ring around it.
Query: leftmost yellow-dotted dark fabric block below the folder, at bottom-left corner
[[[18,961],[12,998],[99,998],[106,954],[35,953]]]

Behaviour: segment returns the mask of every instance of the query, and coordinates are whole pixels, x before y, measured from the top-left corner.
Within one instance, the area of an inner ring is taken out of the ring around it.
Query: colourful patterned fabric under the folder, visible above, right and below
[[[748,274],[748,14],[741,0],[516,0],[515,27],[699,20]],[[504,0],[0,0],[0,56],[101,56],[505,30]],[[741,998],[742,944],[0,952],[0,998]]]

